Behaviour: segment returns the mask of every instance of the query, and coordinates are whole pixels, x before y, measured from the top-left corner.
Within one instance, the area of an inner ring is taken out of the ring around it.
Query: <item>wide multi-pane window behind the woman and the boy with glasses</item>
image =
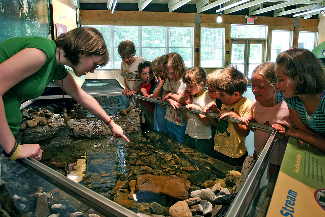
[[[131,40],[136,46],[136,56],[145,57],[148,61],[166,53],[177,52],[187,67],[193,66],[193,27],[85,26],[97,28],[109,49],[110,62],[100,69],[121,68],[118,46],[123,40]]]

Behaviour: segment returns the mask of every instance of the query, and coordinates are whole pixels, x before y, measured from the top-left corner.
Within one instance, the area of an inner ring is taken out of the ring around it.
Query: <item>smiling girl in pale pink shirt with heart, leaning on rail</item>
[[[253,117],[250,115],[243,116],[240,120],[245,124],[253,121],[272,126],[274,129],[279,130],[279,132],[285,133],[286,129],[292,128],[294,124],[290,118],[287,103],[282,100],[279,88],[276,87],[277,77],[274,73],[274,67],[274,62],[263,62],[253,70],[252,91],[255,95],[255,99],[252,102]],[[256,160],[271,132],[258,128],[249,127],[249,129],[254,132],[255,151],[253,157]],[[277,172],[279,171],[279,165],[281,165],[287,142],[288,139],[282,136],[273,149],[270,163],[273,164],[271,166]]]

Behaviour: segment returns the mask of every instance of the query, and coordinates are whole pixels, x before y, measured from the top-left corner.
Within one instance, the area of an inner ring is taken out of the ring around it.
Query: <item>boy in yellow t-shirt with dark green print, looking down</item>
[[[205,112],[219,112],[219,122],[211,118],[217,126],[214,136],[214,156],[232,166],[240,166],[248,156],[245,139],[250,130],[245,125],[227,122],[223,117],[240,118],[252,115],[252,101],[243,97],[247,89],[247,78],[236,66],[229,66],[213,76],[214,87],[222,101],[221,112],[216,103],[207,105]]]

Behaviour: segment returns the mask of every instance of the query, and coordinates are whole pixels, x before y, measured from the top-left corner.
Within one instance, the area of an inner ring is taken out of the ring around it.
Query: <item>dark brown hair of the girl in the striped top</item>
[[[294,94],[316,94],[325,89],[325,69],[310,50],[290,48],[280,53],[275,63],[295,83]]]

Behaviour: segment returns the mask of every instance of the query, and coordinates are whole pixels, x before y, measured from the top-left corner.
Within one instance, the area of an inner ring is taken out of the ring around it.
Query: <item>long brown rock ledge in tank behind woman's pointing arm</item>
[[[122,127],[124,133],[140,130],[140,116],[135,110],[127,115],[117,115],[113,121]],[[61,143],[65,144],[74,140],[105,138],[112,135],[110,127],[99,119],[69,119],[65,126],[64,119],[59,115],[52,115],[47,122],[53,123],[53,128],[48,125],[27,128],[22,136],[22,143]],[[49,142],[50,141],[50,142]]]

